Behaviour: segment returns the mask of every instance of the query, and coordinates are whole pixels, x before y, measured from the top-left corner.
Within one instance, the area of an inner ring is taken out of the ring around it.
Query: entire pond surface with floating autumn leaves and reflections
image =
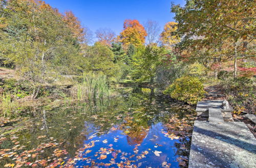
[[[0,167],[187,167],[193,106],[125,89],[1,118]]]

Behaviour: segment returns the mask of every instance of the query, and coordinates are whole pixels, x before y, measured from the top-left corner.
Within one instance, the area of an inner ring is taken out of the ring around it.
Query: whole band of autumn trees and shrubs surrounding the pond
[[[163,30],[157,21],[127,19],[119,35],[99,28],[89,45],[94,35],[72,11],[1,0],[0,64],[15,71],[1,79],[2,111],[25,99],[90,100],[120,84],[146,83],[191,104],[204,97],[204,86],[218,85],[236,113],[254,114],[255,2],[189,0],[170,8],[176,22]],[[70,96],[63,86],[71,86]]]

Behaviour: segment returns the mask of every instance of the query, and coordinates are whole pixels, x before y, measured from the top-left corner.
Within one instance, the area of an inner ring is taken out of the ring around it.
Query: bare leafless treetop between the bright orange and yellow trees
[[[158,22],[153,20],[147,20],[144,25],[145,30],[147,32],[146,44],[157,44],[159,40],[160,26]]]

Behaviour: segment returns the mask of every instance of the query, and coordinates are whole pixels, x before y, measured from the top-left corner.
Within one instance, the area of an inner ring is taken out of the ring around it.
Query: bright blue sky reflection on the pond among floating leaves
[[[150,130],[147,131],[145,134],[142,143],[138,146],[138,153],[134,152],[136,145],[131,145],[129,142],[130,137],[127,136],[123,130],[112,130],[100,136],[97,136],[95,133],[97,131],[92,131],[93,124],[86,123],[86,128],[88,128],[88,132],[91,132],[88,137],[93,137],[87,141],[84,141],[84,144],[89,144],[92,141],[95,142],[95,146],[92,148],[85,149],[83,154],[83,159],[87,158],[86,160],[79,160],[77,161],[76,166],[84,166],[89,165],[91,166],[91,161],[94,160],[96,163],[110,163],[111,158],[117,153],[113,151],[112,153],[104,154],[107,157],[105,159],[99,160],[97,158],[100,157],[100,154],[94,156],[97,152],[100,151],[100,148],[110,149],[113,148],[114,150],[120,150],[115,159],[116,163],[120,163],[121,161],[125,162],[125,160],[131,160],[135,162],[131,162],[131,164],[141,165],[141,167],[152,166],[158,167],[161,166],[162,162],[166,161],[167,163],[171,163],[172,167],[179,167],[179,163],[176,161],[178,156],[175,156],[175,147],[174,143],[179,143],[178,139],[170,139],[162,133],[164,131],[164,127],[162,123],[153,124],[150,127]],[[97,130],[97,128],[95,128]],[[93,135],[93,136],[92,136]],[[95,136],[96,135],[96,136]],[[118,138],[115,142],[115,138]],[[107,143],[103,143],[106,142]],[[109,145],[113,144],[112,147]],[[149,150],[151,149],[151,150]],[[85,154],[87,150],[92,150],[90,153]],[[148,154],[145,155],[144,158],[137,159],[136,156],[141,156],[142,152],[148,151]],[[154,151],[161,151],[160,156],[156,156],[153,152]],[[123,156],[124,157],[123,157]],[[135,155],[134,157],[132,157]],[[131,158],[130,158],[131,157]],[[112,160],[113,161],[113,160]],[[124,164],[125,165],[125,164]],[[112,164],[110,167],[118,167],[117,164]],[[103,166],[104,167],[104,166]]]

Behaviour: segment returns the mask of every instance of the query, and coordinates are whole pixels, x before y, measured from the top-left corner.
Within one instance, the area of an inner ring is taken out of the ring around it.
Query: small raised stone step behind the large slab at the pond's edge
[[[208,117],[208,109],[209,108],[220,108],[222,113],[231,112],[233,111],[233,108],[230,107],[229,109],[222,109],[222,102],[223,100],[207,100],[207,101],[199,101],[197,103],[197,115]]]

